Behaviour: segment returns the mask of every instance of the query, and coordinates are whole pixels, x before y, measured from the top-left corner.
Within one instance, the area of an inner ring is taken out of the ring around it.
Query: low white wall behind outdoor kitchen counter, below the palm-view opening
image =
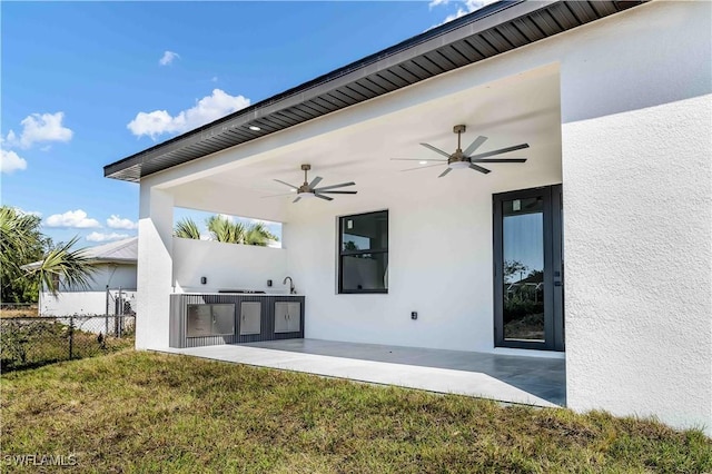
[[[176,292],[214,293],[219,289],[280,292],[287,276],[287,250],[253,245],[174,238]],[[200,284],[200,277],[207,284]],[[273,286],[267,286],[267,280]]]

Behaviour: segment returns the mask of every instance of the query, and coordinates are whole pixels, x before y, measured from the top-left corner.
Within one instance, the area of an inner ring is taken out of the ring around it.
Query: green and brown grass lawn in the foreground
[[[0,388],[6,468],[9,455],[73,454],[71,472],[102,473],[712,472],[710,438],[650,421],[185,356],[127,350]]]

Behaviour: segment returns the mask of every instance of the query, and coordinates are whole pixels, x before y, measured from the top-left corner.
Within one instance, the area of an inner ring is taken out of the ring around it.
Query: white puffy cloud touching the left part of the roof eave
[[[137,137],[147,135],[155,140],[159,135],[188,131],[247,106],[249,99],[215,89],[210,96],[198,100],[195,107],[182,110],[175,117],[166,110],[138,112],[127,128]]]

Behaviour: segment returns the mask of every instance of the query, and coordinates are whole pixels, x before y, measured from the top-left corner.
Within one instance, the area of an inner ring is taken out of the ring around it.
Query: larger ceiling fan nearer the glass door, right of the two
[[[457,134],[457,149],[452,155],[429,144],[421,144],[425,148],[431,149],[436,154],[439,154],[446,157],[447,159],[428,159],[428,160],[424,160],[419,158],[390,158],[390,159],[396,161],[421,161],[422,165],[425,165],[427,161],[438,161],[437,165],[431,165],[425,167],[421,166],[418,168],[408,168],[408,169],[404,169],[404,171],[413,171],[415,169],[429,168],[432,166],[441,166],[443,164],[446,164],[447,169],[441,172],[438,178],[442,178],[443,176],[447,175],[453,169],[463,169],[463,168],[474,169],[475,171],[479,171],[484,175],[486,175],[487,172],[491,172],[491,170],[488,170],[487,168],[483,168],[482,166],[477,165],[481,162],[524,162],[526,161],[526,158],[488,158],[488,157],[506,154],[507,151],[528,148],[530,147],[528,144],[514,145],[512,147],[500,148],[498,150],[473,155],[487,140],[487,137],[479,136],[475,138],[475,140],[472,144],[469,144],[469,146],[465,148],[465,150],[463,150],[461,148],[459,139],[461,139],[461,135],[465,131],[465,129],[466,127],[464,125],[456,125],[455,127],[453,127],[453,132]]]

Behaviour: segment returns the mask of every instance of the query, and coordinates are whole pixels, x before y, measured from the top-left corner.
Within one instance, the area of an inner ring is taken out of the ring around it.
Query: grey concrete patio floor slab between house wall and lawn
[[[565,406],[563,358],[284,339],[175,354],[543,407]]]

